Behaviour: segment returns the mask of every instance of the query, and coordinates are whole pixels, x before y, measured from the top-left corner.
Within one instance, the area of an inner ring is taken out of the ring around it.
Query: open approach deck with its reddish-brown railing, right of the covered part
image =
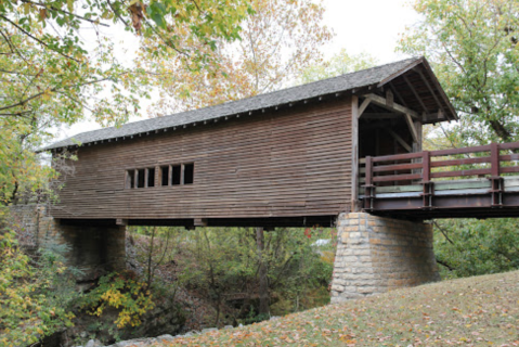
[[[392,217],[519,217],[517,149],[519,142],[366,157],[360,198],[364,210]]]

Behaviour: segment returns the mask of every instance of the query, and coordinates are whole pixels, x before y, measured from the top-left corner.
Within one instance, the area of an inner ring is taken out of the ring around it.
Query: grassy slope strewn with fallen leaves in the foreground
[[[155,346],[519,346],[519,271],[393,291]]]

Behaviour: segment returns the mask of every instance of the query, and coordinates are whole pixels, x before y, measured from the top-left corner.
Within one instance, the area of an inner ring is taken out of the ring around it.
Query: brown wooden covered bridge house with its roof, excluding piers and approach
[[[358,206],[358,163],[419,152],[456,119],[425,59],[79,133],[52,216],[69,223],[332,226]]]

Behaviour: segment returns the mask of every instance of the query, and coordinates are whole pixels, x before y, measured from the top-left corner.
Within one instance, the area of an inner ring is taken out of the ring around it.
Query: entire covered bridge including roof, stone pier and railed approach
[[[517,159],[499,149],[519,145],[421,152],[424,124],[455,119],[417,57],[83,132],[46,149],[78,156],[51,215],[76,255],[101,249],[119,267],[113,255],[124,256],[126,226],[320,224],[339,233],[333,301],[433,281],[424,219],[519,210],[519,194],[501,177],[516,168],[499,171],[502,160]],[[489,155],[431,162],[478,151]],[[491,167],[431,169],[480,164]],[[434,189],[433,179],[473,175],[491,179]]]

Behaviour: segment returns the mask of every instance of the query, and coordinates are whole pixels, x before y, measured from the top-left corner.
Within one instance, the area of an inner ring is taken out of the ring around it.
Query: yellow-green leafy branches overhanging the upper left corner
[[[124,29],[135,35],[135,51],[178,55],[190,72],[217,70],[216,42],[238,39],[251,12],[245,0],[1,0],[0,203],[55,178],[34,154],[55,129],[139,115],[154,81],[117,49]]]

